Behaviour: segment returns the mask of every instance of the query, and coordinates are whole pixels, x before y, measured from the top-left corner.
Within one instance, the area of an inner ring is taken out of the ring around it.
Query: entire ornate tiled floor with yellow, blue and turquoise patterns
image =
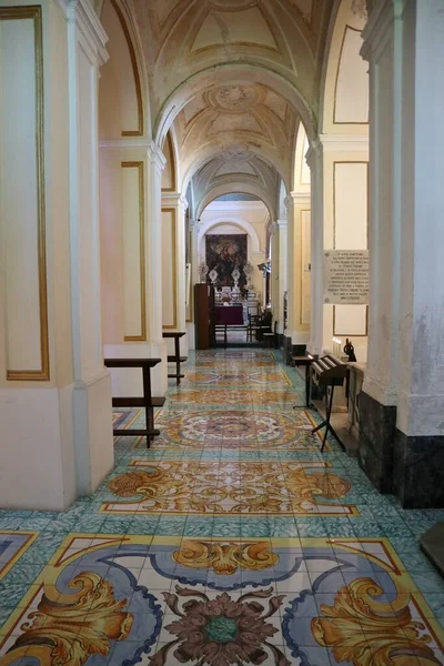
[[[418,548],[444,511],[321,454],[303,393],[279,353],[199,353],[161,436],[117,440],[92,497],[0,512],[0,665],[444,665],[444,582]]]

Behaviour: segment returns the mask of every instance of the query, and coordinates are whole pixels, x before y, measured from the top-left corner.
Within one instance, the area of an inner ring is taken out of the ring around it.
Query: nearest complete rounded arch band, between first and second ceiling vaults
[[[186,81],[178,85],[163,102],[154,122],[155,142],[161,144],[176,114],[198,93],[213,85],[230,85],[245,81],[268,85],[271,90],[283,97],[300,114],[307,135],[316,135],[316,119],[307,100],[295,88],[294,82],[263,64],[239,62],[224,62],[216,67],[208,67],[192,74]]]

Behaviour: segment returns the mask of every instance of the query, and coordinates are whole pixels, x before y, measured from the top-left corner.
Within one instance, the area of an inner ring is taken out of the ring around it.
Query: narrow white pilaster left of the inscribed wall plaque
[[[320,355],[323,347],[324,296],[324,176],[323,151],[319,139],[306,157],[311,170],[311,307],[307,351]]]

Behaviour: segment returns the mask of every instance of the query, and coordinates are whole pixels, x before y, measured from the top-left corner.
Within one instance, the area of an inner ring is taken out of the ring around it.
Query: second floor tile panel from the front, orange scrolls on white
[[[102,513],[198,515],[359,515],[339,502],[351,490],[347,480],[327,472],[330,463],[133,460],[111,478],[115,497]]]

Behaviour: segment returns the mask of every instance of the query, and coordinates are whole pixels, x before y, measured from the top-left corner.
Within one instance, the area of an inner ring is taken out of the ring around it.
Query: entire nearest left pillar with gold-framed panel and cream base
[[[0,8],[1,503],[64,509],[113,464],[97,154],[107,37],[87,0],[20,7],[12,20]]]

